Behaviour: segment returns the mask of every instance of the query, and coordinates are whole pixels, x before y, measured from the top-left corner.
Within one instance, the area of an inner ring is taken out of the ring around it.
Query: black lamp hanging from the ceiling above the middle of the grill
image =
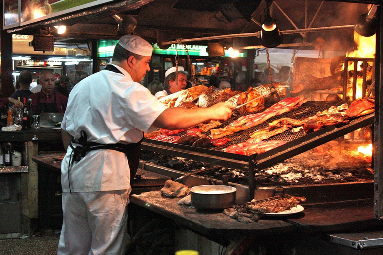
[[[282,43],[282,33],[279,31],[275,19],[270,15],[272,0],[266,0],[265,20],[262,24],[260,41],[266,48],[275,48]]]

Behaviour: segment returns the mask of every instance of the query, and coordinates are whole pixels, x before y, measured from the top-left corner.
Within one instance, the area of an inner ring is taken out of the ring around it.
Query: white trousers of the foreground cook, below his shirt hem
[[[64,192],[64,221],[57,254],[125,254],[129,193]]]

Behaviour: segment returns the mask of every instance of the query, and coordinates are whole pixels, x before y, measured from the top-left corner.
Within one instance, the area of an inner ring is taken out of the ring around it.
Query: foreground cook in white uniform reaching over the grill
[[[152,46],[124,35],[105,69],[71,91],[61,125],[66,155],[61,164],[62,254],[125,254],[127,204],[144,132],[189,128],[226,120],[232,107],[166,108],[142,86]]]

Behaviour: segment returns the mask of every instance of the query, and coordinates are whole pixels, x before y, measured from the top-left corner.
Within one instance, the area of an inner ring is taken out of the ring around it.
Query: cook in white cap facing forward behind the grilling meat
[[[180,90],[184,90],[186,88],[188,72],[184,71],[184,67],[177,67],[177,82],[176,82],[176,67],[173,66],[166,70],[165,72],[165,80],[164,87],[165,90],[159,91],[154,96],[157,99],[161,99],[170,94],[176,93]]]

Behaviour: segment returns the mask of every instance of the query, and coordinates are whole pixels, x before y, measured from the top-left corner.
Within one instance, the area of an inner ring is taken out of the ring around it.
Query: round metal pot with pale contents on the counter
[[[226,185],[201,185],[190,189],[192,205],[201,210],[223,210],[234,206],[237,189]]]

